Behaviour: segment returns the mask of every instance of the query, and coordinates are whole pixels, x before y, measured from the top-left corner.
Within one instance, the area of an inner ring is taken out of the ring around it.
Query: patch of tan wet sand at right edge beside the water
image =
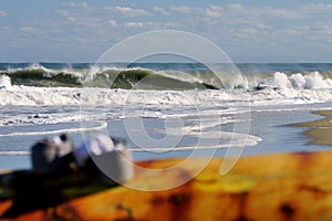
[[[304,134],[311,138],[310,144],[332,146],[332,110],[317,110],[313,114],[322,115],[324,118],[294,126],[309,127]]]

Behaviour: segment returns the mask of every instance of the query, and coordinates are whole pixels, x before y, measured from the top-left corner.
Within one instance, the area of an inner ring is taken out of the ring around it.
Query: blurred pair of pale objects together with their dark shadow
[[[48,210],[77,197],[127,181],[134,175],[131,151],[103,134],[89,137],[74,148],[63,134],[44,138],[31,147],[31,170],[0,175],[1,218]]]

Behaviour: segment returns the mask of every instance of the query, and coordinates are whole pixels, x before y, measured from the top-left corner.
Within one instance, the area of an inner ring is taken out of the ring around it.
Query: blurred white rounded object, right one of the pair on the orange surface
[[[134,176],[132,152],[123,144],[115,144],[108,136],[96,134],[74,149],[74,158],[84,167],[89,159],[102,172],[103,180],[124,182]]]

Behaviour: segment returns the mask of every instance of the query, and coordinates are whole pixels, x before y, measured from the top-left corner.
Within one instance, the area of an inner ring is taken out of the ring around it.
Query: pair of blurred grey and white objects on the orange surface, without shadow
[[[132,155],[124,144],[104,134],[94,134],[74,147],[63,134],[44,138],[32,146],[32,166],[37,172],[82,172],[103,182],[123,182],[133,176]]]

